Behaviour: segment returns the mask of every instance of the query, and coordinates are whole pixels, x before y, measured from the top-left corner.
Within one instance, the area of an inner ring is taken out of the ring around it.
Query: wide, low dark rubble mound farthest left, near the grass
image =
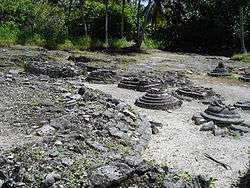
[[[25,71],[35,75],[48,75],[51,78],[66,78],[86,74],[85,69],[56,61],[32,61],[25,66]]]

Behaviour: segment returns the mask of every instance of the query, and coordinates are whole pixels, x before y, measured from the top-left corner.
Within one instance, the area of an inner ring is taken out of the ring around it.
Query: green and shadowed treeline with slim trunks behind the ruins
[[[249,31],[248,0],[0,1],[1,44],[231,55],[250,46]]]

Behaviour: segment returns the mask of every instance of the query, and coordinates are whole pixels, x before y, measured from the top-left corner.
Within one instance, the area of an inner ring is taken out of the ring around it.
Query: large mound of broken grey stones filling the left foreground
[[[34,134],[42,142],[0,156],[1,187],[208,187],[210,179],[177,178],[178,172],[143,160],[153,127],[123,101],[71,82],[57,83],[65,112],[54,117],[51,102],[38,110],[49,121]],[[66,87],[68,84],[71,87]],[[74,101],[74,102],[72,102]]]

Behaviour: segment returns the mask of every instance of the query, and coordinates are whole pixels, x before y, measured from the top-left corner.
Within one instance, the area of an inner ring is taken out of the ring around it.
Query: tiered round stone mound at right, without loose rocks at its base
[[[234,106],[227,106],[219,100],[210,104],[201,115],[207,121],[214,121],[217,125],[224,126],[241,124],[244,121]]]

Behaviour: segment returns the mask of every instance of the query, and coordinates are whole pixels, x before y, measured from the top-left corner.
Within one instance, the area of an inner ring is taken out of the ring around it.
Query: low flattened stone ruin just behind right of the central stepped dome
[[[212,88],[185,86],[176,90],[177,94],[195,99],[207,99],[216,95]]]

